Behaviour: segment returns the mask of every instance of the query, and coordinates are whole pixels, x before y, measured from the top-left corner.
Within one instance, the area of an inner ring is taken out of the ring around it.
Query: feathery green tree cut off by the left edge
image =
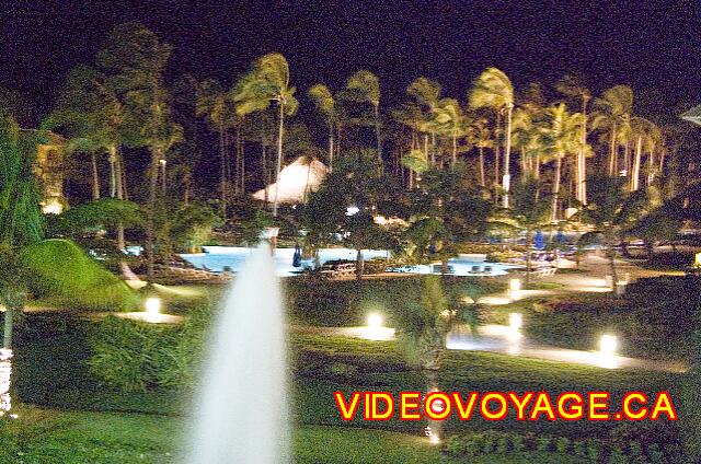
[[[0,109],[0,299],[5,306],[2,347],[8,349],[26,298],[21,252],[43,237],[41,195],[32,172],[36,141],[21,141],[15,120]]]

